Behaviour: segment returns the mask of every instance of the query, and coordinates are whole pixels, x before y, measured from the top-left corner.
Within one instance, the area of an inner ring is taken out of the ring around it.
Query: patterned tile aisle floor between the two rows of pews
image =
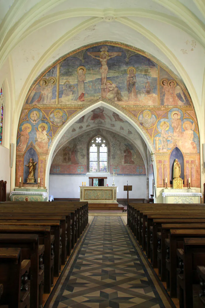
[[[95,216],[49,307],[171,307],[140,255],[121,217]]]

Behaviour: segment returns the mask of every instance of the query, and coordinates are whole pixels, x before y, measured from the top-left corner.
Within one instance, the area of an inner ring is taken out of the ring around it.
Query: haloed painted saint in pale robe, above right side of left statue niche
[[[46,153],[48,151],[48,137],[47,134],[48,125],[45,123],[41,123],[38,125],[38,130],[35,127],[36,130],[36,138],[35,138],[35,147],[37,148],[38,152],[44,152]]]

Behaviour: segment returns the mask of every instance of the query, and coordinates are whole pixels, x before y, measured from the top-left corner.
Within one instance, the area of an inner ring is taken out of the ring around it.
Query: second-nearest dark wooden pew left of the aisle
[[[1,248],[21,248],[22,260],[29,259],[30,264],[30,307],[42,306],[44,269],[44,245],[39,245],[36,234],[0,234]]]

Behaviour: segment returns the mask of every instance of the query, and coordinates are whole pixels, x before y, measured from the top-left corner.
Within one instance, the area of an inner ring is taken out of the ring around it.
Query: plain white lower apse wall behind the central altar
[[[112,186],[112,176],[107,176],[108,186]],[[115,184],[118,186],[117,198],[127,198],[127,192],[123,186],[132,185],[132,191],[129,192],[129,198],[147,198],[147,177],[146,176],[116,176]],[[88,176],[58,176],[50,175],[49,177],[49,195],[54,198],[80,198],[78,191],[82,182],[89,186]]]

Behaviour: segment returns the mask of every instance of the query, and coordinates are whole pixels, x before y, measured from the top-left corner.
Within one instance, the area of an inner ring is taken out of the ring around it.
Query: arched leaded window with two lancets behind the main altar
[[[101,136],[97,136],[89,144],[89,172],[108,171],[108,145]]]

